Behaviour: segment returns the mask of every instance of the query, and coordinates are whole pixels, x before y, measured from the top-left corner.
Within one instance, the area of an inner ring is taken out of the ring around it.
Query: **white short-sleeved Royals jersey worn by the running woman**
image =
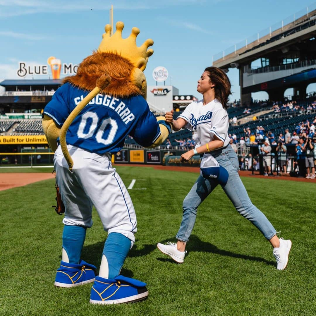
[[[203,105],[203,100],[189,104],[179,118],[187,124],[185,128],[197,134],[195,147],[202,146],[214,139],[214,135],[224,142],[223,147],[229,144],[228,113],[217,99]]]

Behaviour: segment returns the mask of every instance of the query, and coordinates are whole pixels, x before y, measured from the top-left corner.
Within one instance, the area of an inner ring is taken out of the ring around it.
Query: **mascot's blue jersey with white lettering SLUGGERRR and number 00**
[[[88,93],[65,83],[54,93],[43,114],[62,126],[70,112]],[[160,134],[159,124],[142,96],[118,99],[98,94],[74,119],[66,140],[67,144],[104,154],[117,153],[122,149],[127,135],[148,147]]]

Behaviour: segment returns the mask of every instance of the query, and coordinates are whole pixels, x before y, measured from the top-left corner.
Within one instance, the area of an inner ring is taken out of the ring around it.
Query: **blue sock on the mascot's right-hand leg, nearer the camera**
[[[108,234],[103,254],[108,264],[108,278],[113,279],[119,275],[125,258],[131,248],[131,240],[120,233]]]

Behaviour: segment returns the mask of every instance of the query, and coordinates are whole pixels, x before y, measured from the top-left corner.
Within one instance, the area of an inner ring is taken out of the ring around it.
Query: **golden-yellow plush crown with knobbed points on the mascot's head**
[[[135,67],[144,71],[148,58],[154,53],[154,50],[148,49],[154,44],[152,39],[146,40],[142,46],[136,45],[136,37],[139,34],[139,28],[133,27],[131,35],[123,39],[122,30],[123,22],[116,23],[116,31],[111,36],[111,25],[106,24],[105,33],[102,35],[102,41],[98,48],[98,52],[116,53],[128,59]],[[147,50],[148,49],[148,50]]]

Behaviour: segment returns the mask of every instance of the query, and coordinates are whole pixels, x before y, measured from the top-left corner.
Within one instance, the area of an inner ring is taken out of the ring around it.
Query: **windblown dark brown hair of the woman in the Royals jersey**
[[[217,67],[207,67],[204,71],[208,72],[211,82],[215,84],[215,98],[219,100],[223,108],[227,110],[228,97],[232,94],[228,76],[222,69]]]

